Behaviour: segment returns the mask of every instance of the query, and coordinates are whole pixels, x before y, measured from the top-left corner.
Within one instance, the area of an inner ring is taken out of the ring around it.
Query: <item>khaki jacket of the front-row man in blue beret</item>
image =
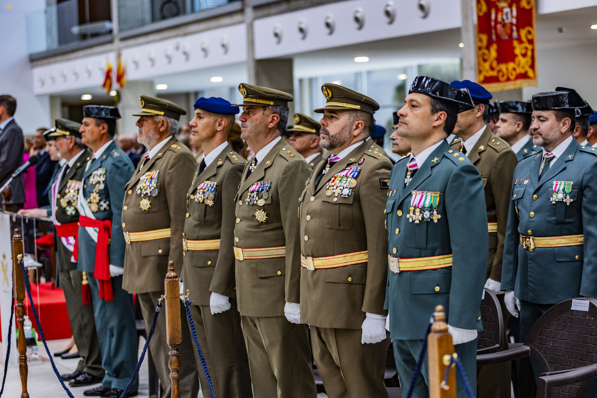
[[[217,158],[199,174],[195,169],[193,183],[187,193],[187,212],[183,236],[189,240],[220,239],[220,249],[186,250],[183,244],[184,289],[189,300],[198,306],[209,306],[211,292],[235,298],[234,275],[234,197],[241,182],[245,160],[226,146]],[[217,184],[214,203],[199,201],[197,189],[211,181]]]

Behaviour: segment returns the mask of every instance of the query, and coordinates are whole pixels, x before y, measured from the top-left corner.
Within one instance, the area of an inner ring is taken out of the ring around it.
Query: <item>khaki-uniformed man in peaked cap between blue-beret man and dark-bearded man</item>
[[[298,197],[310,174],[280,134],[292,95],[242,83],[241,138],[255,155],[236,195],[236,298],[256,397],[315,397],[300,323]]]

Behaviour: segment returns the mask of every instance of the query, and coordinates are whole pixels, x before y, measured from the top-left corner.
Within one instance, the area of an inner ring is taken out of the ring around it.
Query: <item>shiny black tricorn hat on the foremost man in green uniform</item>
[[[408,94],[411,94],[411,92],[425,94],[436,100],[442,101],[445,104],[450,104],[451,106],[456,107],[457,113],[475,107],[469,91],[466,90],[466,88],[458,89],[451,84],[427,76],[417,76],[414,78]]]

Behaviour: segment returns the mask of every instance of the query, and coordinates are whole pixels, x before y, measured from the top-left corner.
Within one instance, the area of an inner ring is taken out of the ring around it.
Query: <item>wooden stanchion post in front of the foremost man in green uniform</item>
[[[448,324],[445,322],[444,306],[435,307],[435,314],[433,315],[435,316],[435,322],[433,322],[431,332],[427,336],[429,396],[430,398],[455,398],[455,365],[451,366],[450,372],[448,372],[447,384],[442,385],[446,367],[450,365],[450,359],[454,354],[452,336],[448,333]]]

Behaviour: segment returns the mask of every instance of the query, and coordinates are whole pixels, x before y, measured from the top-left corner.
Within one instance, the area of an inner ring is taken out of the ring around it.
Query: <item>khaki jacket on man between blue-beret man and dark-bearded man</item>
[[[298,197],[311,168],[284,140],[278,141],[247,178],[248,166],[235,198],[235,245],[240,248],[286,246],[286,256],[236,259],[236,297],[242,316],[284,316],[284,302],[300,302],[300,238]],[[246,202],[258,181],[271,181],[264,205]],[[265,222],[257,214],[265,213]]]

